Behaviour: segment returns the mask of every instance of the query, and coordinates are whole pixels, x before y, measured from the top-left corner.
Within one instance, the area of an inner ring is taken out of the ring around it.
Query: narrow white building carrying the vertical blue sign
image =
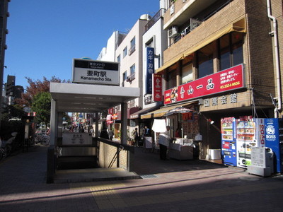
[[[153,119],[140,119],[141,114],[155,110],[163,105],[162,98],[156,100],[152,90],[152,74],[154,69],[158,69],[163,63],[163,51],[167,47],[167,31],[163,30],[163,15],[165,9],[162,8],[149,20],[146,24],[146,32],[142,36],[142,77],[143,77],[143,90],[142,98],[143,104],[141,110],[131,114],[130,119],[139,126],[139,134],[142,134],[142,129],[145,126],[151,127]],[[162,88],[161,88],[162,90]]]

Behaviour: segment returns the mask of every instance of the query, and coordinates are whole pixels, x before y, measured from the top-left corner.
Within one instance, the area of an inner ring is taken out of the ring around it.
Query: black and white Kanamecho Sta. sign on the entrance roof
[[[119,63],[73,59],[72,82],[119,86]]]

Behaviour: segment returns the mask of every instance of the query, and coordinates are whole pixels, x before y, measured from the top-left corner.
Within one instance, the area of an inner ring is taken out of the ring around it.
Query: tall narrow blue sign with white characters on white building
[[[152,74],[154,73],[154,48],[146,48],[146,94],[152,94]]]

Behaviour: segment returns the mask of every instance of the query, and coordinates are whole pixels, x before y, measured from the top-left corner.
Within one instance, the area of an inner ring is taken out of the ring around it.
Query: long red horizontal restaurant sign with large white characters
[[[243,64],[199,78],[164,92],[164,104],[244,88]]]

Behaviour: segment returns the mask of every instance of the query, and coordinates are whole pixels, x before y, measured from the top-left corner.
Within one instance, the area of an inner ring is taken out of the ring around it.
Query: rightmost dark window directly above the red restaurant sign
[[[220,70],[243,63],[243,33],[230,33],[219,39]]]

